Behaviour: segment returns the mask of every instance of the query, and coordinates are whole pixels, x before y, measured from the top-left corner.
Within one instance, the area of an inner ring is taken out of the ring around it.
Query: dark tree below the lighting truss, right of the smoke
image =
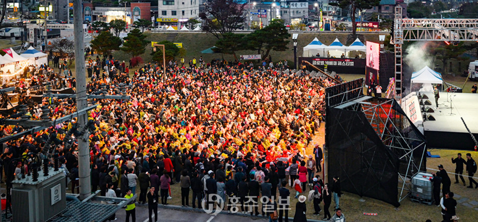
[[[434,47],[436,52],[436,59],[441,60],[443,63],[443,72],[447,72],[447,62],[449,59],[466,60],[463,54],[467,51],[463,46],[463,42],[453,44],[449,42],[440,42],[437,47]]]

